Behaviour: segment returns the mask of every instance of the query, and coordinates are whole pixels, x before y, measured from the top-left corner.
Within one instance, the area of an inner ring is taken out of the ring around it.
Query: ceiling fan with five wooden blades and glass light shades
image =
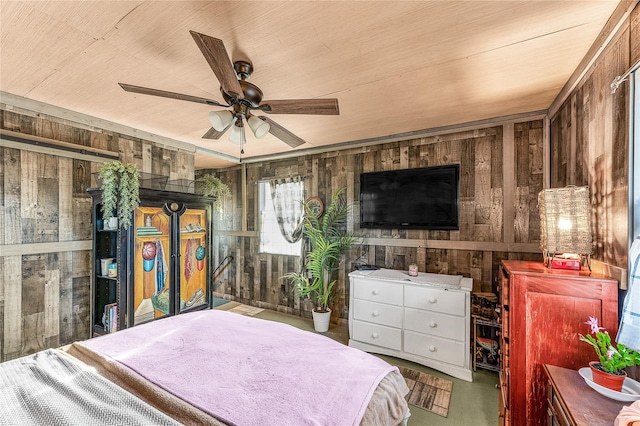
[[[258,86],[247,81],[253,72],[253,65],[250,62],[236,61],[231,63],[222,40],[195,31],[189,32],[209,63],[213,73],[218,78],[220,92],[227,104],[222,104],[213,99],[125,83],[118,83],[120,87],[127,92],[161,96],[211,106],[231,107],[231,110],[211,111],[209,113],[209,121],[212,127],[202,137],[219,139],[232,127],[229,140],[241,146],[246,141],[244,133],[245,121],[257,138],[262,138],[267,133],[271,133],[292,148],[305,143],[302,138],[291,133],[275,121],[268,117],[253,115],[252,111],[257,110],[267,114],[338,115],[340,113],[338,100],[335,98],[263,101],[262,91]]]

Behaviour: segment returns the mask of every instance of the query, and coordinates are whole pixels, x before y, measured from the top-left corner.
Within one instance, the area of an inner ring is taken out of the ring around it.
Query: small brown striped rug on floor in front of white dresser
[[[406,397],[409,404],[447,417],[453,382],[410,368],[399,368],[409,387]]]

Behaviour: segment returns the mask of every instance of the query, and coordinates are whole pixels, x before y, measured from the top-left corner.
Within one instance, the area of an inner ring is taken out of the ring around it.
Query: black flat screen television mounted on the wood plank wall
[[[360,174],[360,227],[457,230],[460,165]]]

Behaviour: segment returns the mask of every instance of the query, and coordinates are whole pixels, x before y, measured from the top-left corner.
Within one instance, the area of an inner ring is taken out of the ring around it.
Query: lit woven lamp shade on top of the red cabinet
[[[559,253],[591,255],[588,186],[544,189],[538,194],[540,248],[545,258]]]

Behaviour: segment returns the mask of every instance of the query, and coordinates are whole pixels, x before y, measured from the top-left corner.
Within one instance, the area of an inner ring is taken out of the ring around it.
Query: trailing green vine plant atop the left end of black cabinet
[[[118,224],[128,229],[133,212],[140,204],[140,172],[133,164],[120,161],[100,168],[102,179],[102,217],[107,221],[117,212]]]

